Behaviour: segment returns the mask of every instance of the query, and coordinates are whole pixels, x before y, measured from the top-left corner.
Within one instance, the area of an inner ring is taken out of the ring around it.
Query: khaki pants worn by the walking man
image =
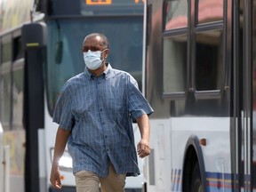
[[[94,172],[76,172],[76,192],[124,192],[125,174],[118,175],[111,163],[108,170],[106,178],[100,178]]]

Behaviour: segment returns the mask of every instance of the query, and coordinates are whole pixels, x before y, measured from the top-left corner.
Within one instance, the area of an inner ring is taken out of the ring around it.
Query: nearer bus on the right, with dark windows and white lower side
[[[256,1],[147,0],[145,190],[256,191]]]

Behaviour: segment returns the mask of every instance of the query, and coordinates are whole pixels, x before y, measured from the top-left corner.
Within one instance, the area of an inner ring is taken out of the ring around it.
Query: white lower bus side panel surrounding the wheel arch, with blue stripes
[[[215,117],[172,118],[172,191],[175,191],[178,185],[181,189],[181,182],[177,183],[177,179],[180,178],[179,181],[181,181],[182,178],[186,143],[189,137],[195,134],[198,140],[206,140],[205,146],[201,144],[201,148],[208,188],[212,191],[216,190],[217,187],[214,187],[216,180],[224,179],[224,174],[231,175],[230,142],[227,139],[229,138],[229,122],[228,117],[218,119]],[[183,161],[180,161],[181,159]],[[231,183],[225,179],[218,185],[218,190],[226,190],[227,185]]]

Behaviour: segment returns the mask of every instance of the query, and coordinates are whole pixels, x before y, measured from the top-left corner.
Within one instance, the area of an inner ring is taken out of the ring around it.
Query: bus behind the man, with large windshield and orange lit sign
[[[142,0],[0,0],[1,192],[56,191],[49,178],[58,129],[52,113],[61,86],[84,71],[84,36],[106,35],[108,62],[141,89],[143,10]],[[134,137],[140,140],[136,124]],[[76,191],[68,150],[60,172],[60,191]],[[128,177],[126,191],[141,191],[142,181],[142,174]]]

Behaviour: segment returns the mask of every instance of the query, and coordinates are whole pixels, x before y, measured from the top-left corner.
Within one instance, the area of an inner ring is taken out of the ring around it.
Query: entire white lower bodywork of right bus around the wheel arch
[[[151,119],[150,143],[154,153],[147,161],[148,191],[181,191],[186,143],[195,132],[199,139],[206,139],[206,146],[202,150],[209,185],[214,186],[216,180],[225,177],[224,174],[231,175],[230,144],[227,140],[229,121],[226,117],[218,121],[209,117]],[[154,161],[150,161],[150,158],[154,158]],[[223,180],[219,189],[225,189],[224,184],[230,185],[230,180]],[[216,188],[212,187],[211,190]]]

